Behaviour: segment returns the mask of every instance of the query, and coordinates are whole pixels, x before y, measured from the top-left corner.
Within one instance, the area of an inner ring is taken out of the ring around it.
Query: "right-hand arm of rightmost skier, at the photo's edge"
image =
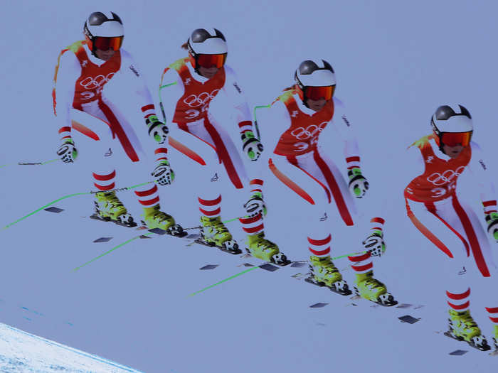
[[[470,146],[472,158],[467,168],[472,173],[473,180],[477,181],[480,190],[487,231],[491,234],[492,239],[498,242],[498,207],[494,183],[489,175],[489,166],[484,162],[484,152],[475,141],[471,141]]]

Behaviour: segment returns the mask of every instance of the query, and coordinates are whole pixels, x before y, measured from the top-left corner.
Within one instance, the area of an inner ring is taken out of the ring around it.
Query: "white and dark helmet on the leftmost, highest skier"
[[[83,33],[88,40],[88,48],[95,52],[95,38],[119,38],[124,36],[123,23],[120,16],[112,11],[95,11],[88,16],[83,26]]]

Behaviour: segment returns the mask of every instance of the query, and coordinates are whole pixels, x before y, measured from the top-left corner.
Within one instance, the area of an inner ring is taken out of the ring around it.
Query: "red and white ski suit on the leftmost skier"
[[[126,80],[129,91],[114,94],[109,99],[106,94],[109,86],[120,79]],[[132,161],[133,167],[127,166],[127,169],[132,170],[134,181],[143,183],[151,179],[152,163],[147,163],[146,153],[152,146],[152,139],[147,139],[145,119],[132,125],[118,109],[118,105],[129,104],[130,99],[133,104],[137,103],[137,111],[141,109],[144,118],[155,114],[149,90],[125,50],[121,48],[108,61],[92,55],[85,40],[61,51],[54,76],[55,123],[61,140],[75,140],[78,161],[92,169],[98,190],[115,188],[113,153],[119,150],[117,146]],[[142,145],[147,148],[144,150]],[[156,153],[164,156],[166,147],[159,148]],[[159,202],[156,185],[139,187],[135,193],[145,207]]]

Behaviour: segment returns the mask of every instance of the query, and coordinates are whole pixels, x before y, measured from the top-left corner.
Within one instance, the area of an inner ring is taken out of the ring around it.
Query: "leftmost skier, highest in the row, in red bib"
[[[121,48],[124,38],[121,18],[113,12],[91,13],[85,21],[83,33],[85,40],[63,49],[55,67],[53,110],[60,134],[57,153],[63,162],[73,163],[78,156],[76,144],[85,144],[82,158],[90,163],[93,183],[100,190],[95,193],[95,214],[92,217],[133,227],[137,224],[113,190],[116,176],[112,159],[113,139],[117,137],[127,158],[132,161],[137,180],[149,180],[150,171],[144,172],[147,157],[142,148],[143,141],[139,141],[148,128],[152,142],[159,146],[155,151],[157,158],[152,175],[156,183],[166,185],[174,179],[164,144],[168,128],[157,119],[149,90],[131,56]],[[132,80],[127,93],[140,102],[147,127],[135,131],[115,102],[102,93],[108,82],[117,80],[118,76]],[[184,234],[174,218],[160,210],[155,183],[136,188],[134,193],[143,206],[143,222],[149,229]]]

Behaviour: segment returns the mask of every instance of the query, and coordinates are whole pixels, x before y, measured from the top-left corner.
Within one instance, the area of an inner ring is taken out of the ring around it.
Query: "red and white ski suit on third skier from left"
[[[271,137],[278,141],[276,146],[266,147],[267,157],[270,157],[267,164],[272,174],[296,193],[296,198],[307,201],[307,206],[311,207],[305,212],[312,220],[307,237],[309,252],[327,256],[332,240],[331,217],[339,212],[338,218],[346,225],[355,225],[358,220],[346,178],[319,146],[320,133],[331,124],[344,142],[347,168],[360,167],[356,136],[346,117],[344,104],[333,97],[322,110],[314,112],[304,106],[297,91],[287,90],[273,102],[271,110],[272,123],[265,124],[265,128],[261,126],[262,136],[266,139],[266,127],[271,126]],[[381,217],[375,217],[371,220],[371,228],[381,231],[383,222]],[[373,266],[370,254],[351,256],[350,260],[357,273],[369,271]]]

